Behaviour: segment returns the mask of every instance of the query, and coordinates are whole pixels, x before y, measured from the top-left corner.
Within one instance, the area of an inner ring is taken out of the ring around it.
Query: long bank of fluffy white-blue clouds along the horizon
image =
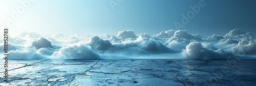
[[[22,32],[9,39],[11,59],[256,58],[255,35],[239,29],[208,37],[185,30],[168,30],[154,35],[136,35],[132,30],[125,30],[117,35],[72,34],[69,37],[61,33],[42,36]],[[1,48],[4,50],[3,43]]]

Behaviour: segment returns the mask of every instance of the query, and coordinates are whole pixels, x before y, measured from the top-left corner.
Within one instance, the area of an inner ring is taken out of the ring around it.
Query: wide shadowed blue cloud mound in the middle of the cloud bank
[[[165,47],[159,41],[148,40],[145,37],[139,36],[136,40],[113,44],[106,52],[124,55],[147,55],[174,53],[174,50]]]

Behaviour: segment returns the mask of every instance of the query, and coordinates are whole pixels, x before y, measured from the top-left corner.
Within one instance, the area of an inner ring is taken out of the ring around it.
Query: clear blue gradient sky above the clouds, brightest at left
[[[23,1],[23,0],[22,0]],[[118,3],[116,0],[113,2]],[[22,6],[18,1],[0,1],[0,28],[9,27],[11,34],[20,31],[39,34],[74,33],[117,34],[122,30],[134,30],[135,34],[157,34],[176,29],[181,14],[190,11],[190,5],[199,0],[124,0],[113,10],[110,1],[35,1],[25,12],[7,26],[5,17],[11,18],[12,9]],[[190,19],[183,30],[190,34],[225,34],[232,29],[256,33],[256,1],[253,0],[205,0],[206,6]]]

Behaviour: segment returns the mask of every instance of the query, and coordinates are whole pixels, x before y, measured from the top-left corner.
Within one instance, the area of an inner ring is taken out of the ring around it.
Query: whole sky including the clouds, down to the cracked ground
[[[255,4],[3,0],[0,28],[9,28],[8,53],[18,59],[255,58]]]

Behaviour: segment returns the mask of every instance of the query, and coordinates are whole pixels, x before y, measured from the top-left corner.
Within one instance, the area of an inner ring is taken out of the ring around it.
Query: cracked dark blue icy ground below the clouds
[[[0,85],[255,85],[256,60],[15,59]],[[236,63],[236,64],[234,64]]]

